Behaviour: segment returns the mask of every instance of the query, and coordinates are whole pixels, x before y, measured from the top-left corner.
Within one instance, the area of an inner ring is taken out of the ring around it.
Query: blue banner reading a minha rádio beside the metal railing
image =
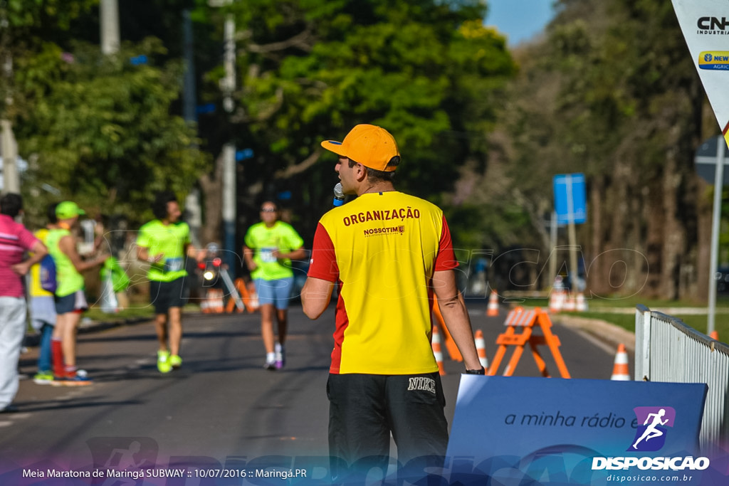
[[[450,482],[729,484],[698,447],[706,391],[704,384],[463,375]]]

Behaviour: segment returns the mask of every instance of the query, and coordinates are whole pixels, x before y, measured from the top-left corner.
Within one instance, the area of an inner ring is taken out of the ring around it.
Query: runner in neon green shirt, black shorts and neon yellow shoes
[[[157,219],[139,229],[137,258],[149,264],[149,298],[155,306],[159,341],[157,369],[168,373],[182,366],[182,307],[189,291],[185,285],[185,257],[195,256],[198,251],[190,242],[190,227],[179,221],[182,211],[173,192],[158,193],[152,213]]]

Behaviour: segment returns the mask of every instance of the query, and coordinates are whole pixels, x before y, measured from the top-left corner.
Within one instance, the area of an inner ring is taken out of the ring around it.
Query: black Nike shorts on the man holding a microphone
[[[438,372],[329,375],[327,396],[332,468],[338,460],[356,469],[363,458],[381,457],[386,469],[390,434],[403,465],[424,456],[445,456],[448,423]],[[372,466],[371,461],[366,465]]]

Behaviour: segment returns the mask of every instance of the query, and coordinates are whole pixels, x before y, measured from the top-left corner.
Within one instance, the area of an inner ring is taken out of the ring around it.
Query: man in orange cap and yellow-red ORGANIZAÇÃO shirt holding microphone
[[[357,196],[319,220],[301,295],[316,319],[339,289],[327,382],[330,455],[349,465],[380,456],[386,469],[392,434],[400,463],[443,456],[448,425],[431,346],[433,294],[467,372],[483,374],[443,211],[394,189],[400,156],[383,128],[357,125],[344,141],[321,146],[338,154],[343,192]]]

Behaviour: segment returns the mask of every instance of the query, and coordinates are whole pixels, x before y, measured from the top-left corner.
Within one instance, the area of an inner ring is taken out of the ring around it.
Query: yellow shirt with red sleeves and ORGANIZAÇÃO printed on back
[[[457,265],[443,211],[426,200],[369,193],[324,214],[308,276],[340,286],[330,372],[436,372],[429,283]]]

